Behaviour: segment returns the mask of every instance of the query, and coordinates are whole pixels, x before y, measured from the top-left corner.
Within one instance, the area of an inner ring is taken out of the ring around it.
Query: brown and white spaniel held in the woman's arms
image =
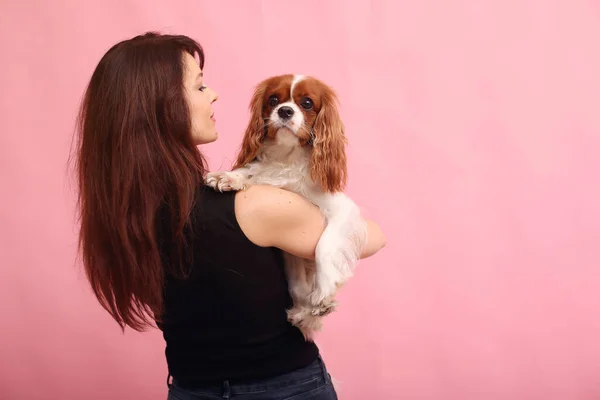
[[[319,207],[327,224],[315,260],[284,253],[294,302],[288,318],[312,340],[335,309],[335,293],[353,275],[367,239],[359,207],[343,192],[347,140],[337,96],[314,77],[274,76],[256,87],[250,112],[233,170],[208,173],[206,184],[220,191],[273,185]]]

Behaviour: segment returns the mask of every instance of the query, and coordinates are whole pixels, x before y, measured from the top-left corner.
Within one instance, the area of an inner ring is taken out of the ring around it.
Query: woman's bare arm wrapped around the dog
[[[273,186],[251,186],[236,194],[235,212],[242,231],[256,245],[315,258],[326,221],[321,211],[304,197]],[[361,258],[370,257],[386,244],[379,226],[365,221],[368,241]]]

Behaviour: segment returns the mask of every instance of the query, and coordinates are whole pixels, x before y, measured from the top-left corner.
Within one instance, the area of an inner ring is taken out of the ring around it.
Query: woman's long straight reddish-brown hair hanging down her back
[[[204,66],[187,36],[148,32],[114,45],[78,115],[79,250],[94,294],[122,329],[160,320],[165,273],[183,271],[164,263],[157,229],[168,228],[167,246],[185,247],[206,170],[190,133],[184,52]]]

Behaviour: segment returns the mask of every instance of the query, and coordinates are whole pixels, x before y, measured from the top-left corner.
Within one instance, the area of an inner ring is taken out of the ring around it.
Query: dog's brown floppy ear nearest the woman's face
[[[263,120],[263,102],[265,91],[267,90],[267,82],[261,82],[254,89],[254,94],[250,100],[250,121],[246,127],[246,132],[242,140],[240,151],[236,158],[233,169],[241,168],[244,165],[252,162],[256,158],[256,153],[260,148],[264,137],[265,122]]]

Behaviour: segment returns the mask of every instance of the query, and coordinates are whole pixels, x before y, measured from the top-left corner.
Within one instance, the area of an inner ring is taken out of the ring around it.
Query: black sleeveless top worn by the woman
[[[244,235],[235,192],[203,186],[198,194],[191,273],[186,279],[166,275],[159,328],[169,373],[193,386],[268,378],[309,365],[318,348],[287,321],[292,300],[281,251]]]

